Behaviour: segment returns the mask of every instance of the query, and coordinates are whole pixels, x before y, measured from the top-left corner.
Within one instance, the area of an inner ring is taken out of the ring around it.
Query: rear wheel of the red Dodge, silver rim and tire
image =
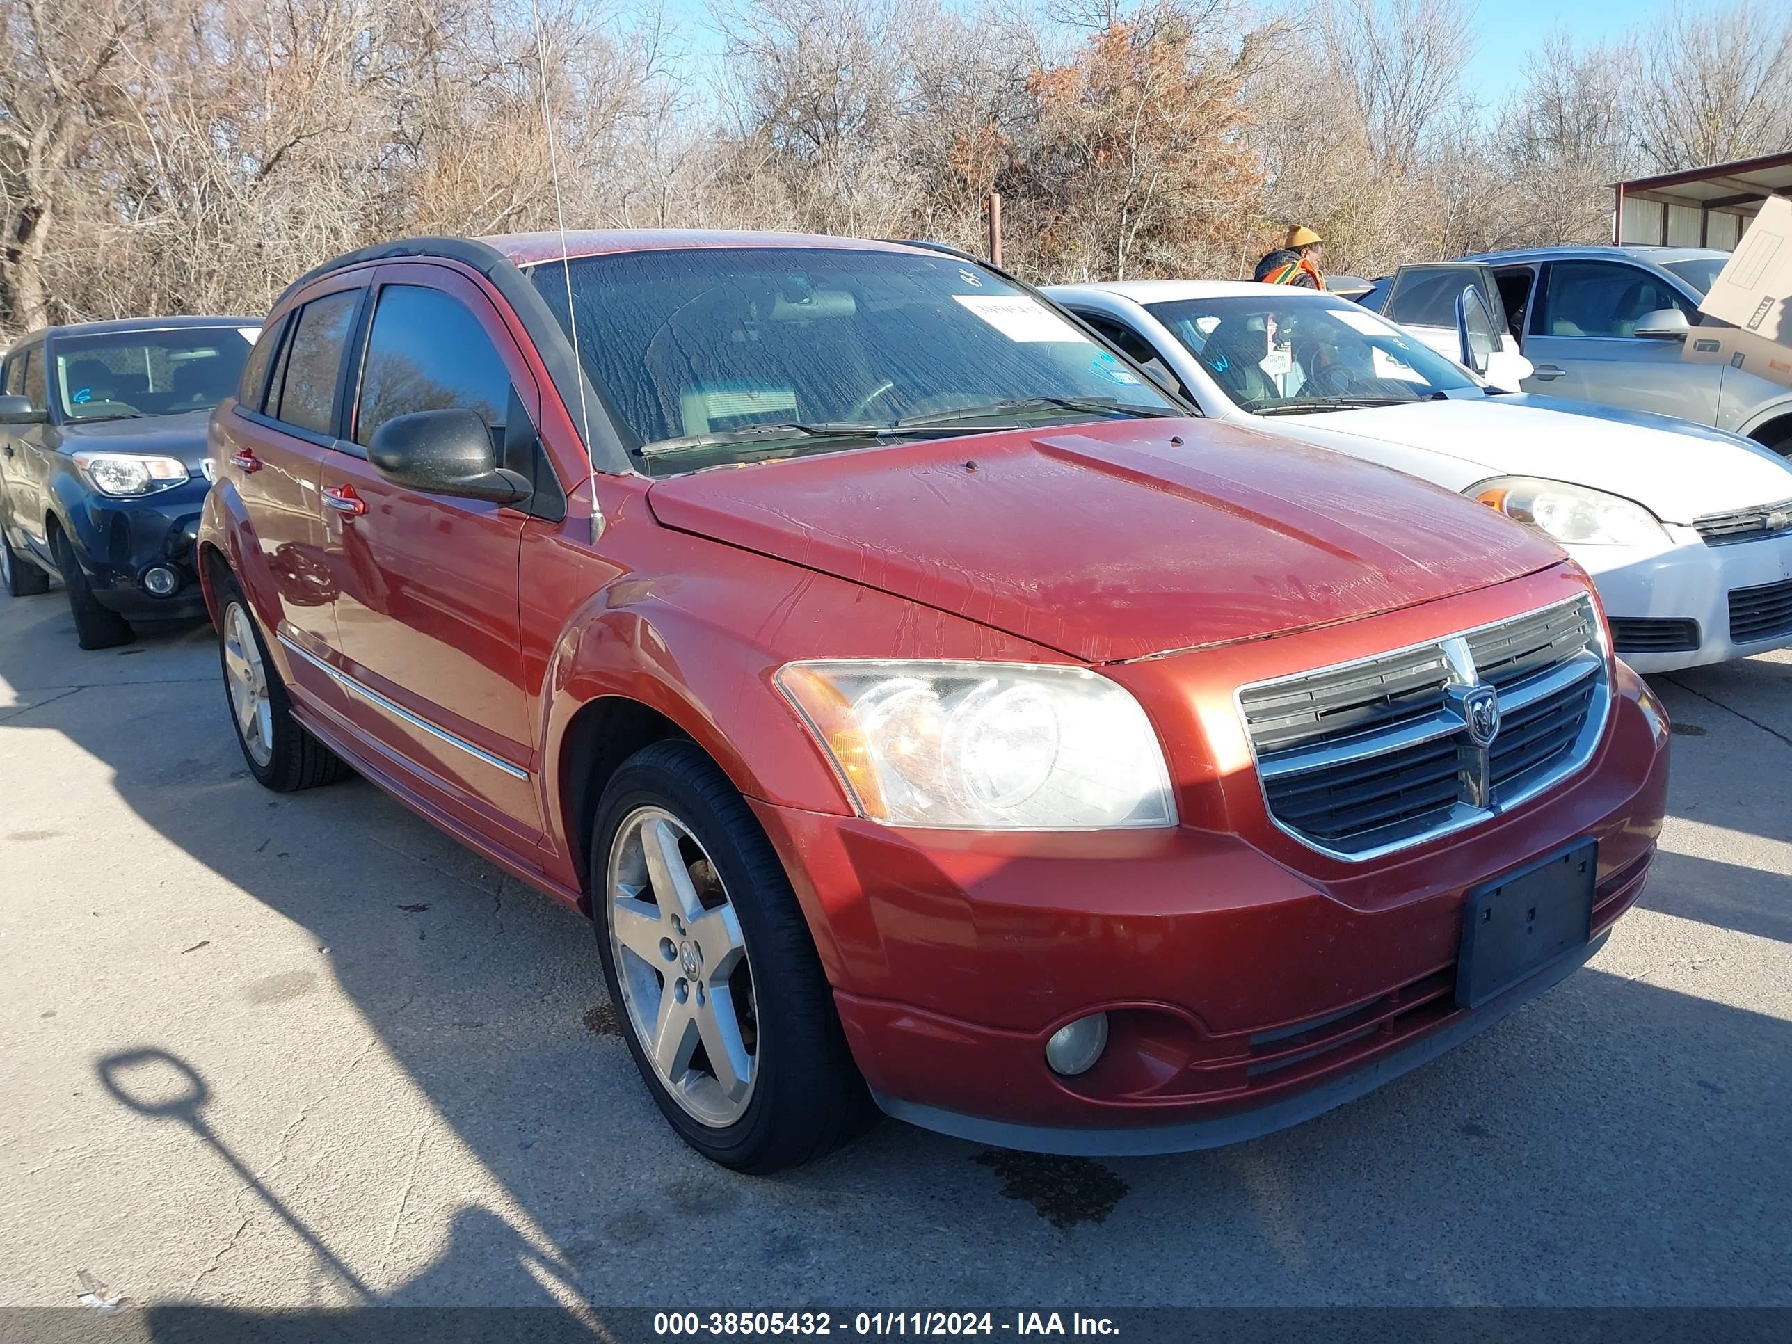
[[[217,579],[219,667],[224,702],[249,772],[276,794],[335,783],[349,774],[330,747],[292,717],[287,685],[235,579]]]

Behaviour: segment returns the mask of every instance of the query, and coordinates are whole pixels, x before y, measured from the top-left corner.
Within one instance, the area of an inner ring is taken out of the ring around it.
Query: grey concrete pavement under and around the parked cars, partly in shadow
[[[1792,1305],[1792,658],[1656,679],[1591,966],[1217,1152],[674,1140],[588,925],[355,780],[249,778],[210,627],[0,597],[0,1305]]]

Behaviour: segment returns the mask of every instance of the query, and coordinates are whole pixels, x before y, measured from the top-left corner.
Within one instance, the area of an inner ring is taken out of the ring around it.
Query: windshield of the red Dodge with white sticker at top
[[[577,344],[647,471],[1014,425],[1185,414],[1047,305],[946,254],[573,258]],[[566,326],[566,272],[538,265]]]

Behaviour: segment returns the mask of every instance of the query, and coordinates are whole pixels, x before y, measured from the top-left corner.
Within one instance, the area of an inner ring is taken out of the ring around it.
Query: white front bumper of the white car
[[[1792,620],[1738,640],[1729,618],[1733,591],[1788,584],[1792,600],[1792,532],[1727,547],[1706,545],[1692,527],[1668,523],[1667,534],[1658,547],[1568,547],[1598,588],[1625,663],[1638,672],[1674,672],[1792,645]],[[1692,647],[1627,645],[1627,622],[1693,622],[1697,633]]]

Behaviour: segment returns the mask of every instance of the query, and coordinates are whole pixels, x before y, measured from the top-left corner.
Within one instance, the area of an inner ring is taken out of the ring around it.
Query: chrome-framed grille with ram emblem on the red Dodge
[[[1498,694],[1477,744],[1464,692]],[[1238,690],[1276,824],[1373,858],[1516,806],[1593,754],[1606,654],[1588,599]]]

